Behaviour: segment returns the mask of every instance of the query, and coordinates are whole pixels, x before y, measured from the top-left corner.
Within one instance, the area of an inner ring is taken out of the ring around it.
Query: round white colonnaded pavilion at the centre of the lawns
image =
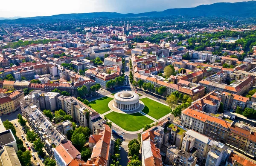
[[[113,107],[122,111],[134,111],[140,107],[140,97],[131,91],[118,92],[114,95]]]

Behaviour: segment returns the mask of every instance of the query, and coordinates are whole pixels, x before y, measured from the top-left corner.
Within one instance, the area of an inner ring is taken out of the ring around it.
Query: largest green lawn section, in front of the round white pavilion
[[[151,124],[154,122],[139,112],[135,114],[120,114],[117,112],[111,112],[106,114],[105,117],[107,117],[116,125],[120,126],[122,129],[130,132],[138,131],[142,129],[146,124]]]

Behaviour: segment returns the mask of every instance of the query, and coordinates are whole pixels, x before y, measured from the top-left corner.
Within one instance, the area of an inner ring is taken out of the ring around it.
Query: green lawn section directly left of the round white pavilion
[[[94,109],[96,112],[99,112],[100,114],[104,114],[105,112],[110,111],[110,108],[108,108],[108,103],[113,100],[111,97],[102,97],[98,100],[91,101],[90,104],[92,106],[92,109]]]

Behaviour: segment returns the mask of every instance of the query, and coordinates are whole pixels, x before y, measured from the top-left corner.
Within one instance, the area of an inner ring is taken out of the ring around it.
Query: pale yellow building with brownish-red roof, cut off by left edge
[[[15,111],[13,100],[9,96],[0,97],[0,114],[8,114]]]

